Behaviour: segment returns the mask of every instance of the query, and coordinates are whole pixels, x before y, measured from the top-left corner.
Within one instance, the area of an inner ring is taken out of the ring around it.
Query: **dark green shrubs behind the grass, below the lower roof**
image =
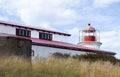
[[[107,55],[107,54],[102,54],[102,53],[97,53],[97,54],[82,54],[82,55],[73,55],[71,56],[70,54],[67,53],[53,53],[52,54],[56,58],[73,58],[73,59],[78,59],[79,61],[84,60],[88,62],[96,62],[96,61],[109,61],[112,64],[120,64],[120,60],[116,59],[112,55]]]

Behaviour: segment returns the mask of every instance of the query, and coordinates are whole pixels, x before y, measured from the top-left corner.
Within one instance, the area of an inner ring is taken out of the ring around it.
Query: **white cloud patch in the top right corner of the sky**
[[[107,7],[112,3],[120,2],[120,0],[94,0],[94,7]]]

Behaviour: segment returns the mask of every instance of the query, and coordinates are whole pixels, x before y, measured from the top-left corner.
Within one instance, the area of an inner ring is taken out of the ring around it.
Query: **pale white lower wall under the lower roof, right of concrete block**
[[[46,57],[55,52],[68,53],[71,55],[86,54],[86,52],[83,52],[83,51],[53,48],[53,47],[46,47],[46,46],[37,46],[37,45],[32,45],[32,50],[34,50],[34,57],[32,57],[32,59],[34,59],[35,57]]]

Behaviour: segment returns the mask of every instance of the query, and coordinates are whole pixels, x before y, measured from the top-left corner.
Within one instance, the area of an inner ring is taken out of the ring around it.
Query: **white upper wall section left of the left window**
[[[12,26],[5,26],[0,24],[0,33],[6,33],[6,34],[16,34],[16,28]]]

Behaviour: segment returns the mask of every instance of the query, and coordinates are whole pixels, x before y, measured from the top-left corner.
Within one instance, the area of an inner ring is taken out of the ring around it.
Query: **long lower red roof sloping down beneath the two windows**
[[[37,39],[37,38],[27,38],[27,37],[10,35],[10,34],[2,34],[2,33],[0,33],[0,37],[19,37],[19,38],[30,39],[32,40],[33,45],[43,45],[43,46],[49,46],[49,47],[57,47],[57,48],[71,49],[71,50],[81,50],[85,52],[94,52],[94,53],[106,53],[106,54],[111,54],[111,55],[116,54],[114,52],[85,47],[82,45],[74,45],[74,44],[65,43],[65,42],[49,41],[49,40],[43,40],[43,39]]]

